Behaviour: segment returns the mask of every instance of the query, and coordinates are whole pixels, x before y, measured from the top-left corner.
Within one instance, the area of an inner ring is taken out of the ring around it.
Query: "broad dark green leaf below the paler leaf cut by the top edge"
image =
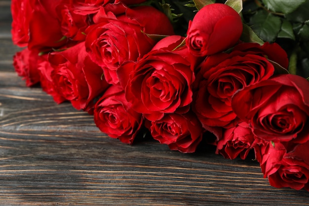
[[[264,41],[273,42],[281,29],[281,19],[265,10],[260,10],[250,19],[253,31]]]

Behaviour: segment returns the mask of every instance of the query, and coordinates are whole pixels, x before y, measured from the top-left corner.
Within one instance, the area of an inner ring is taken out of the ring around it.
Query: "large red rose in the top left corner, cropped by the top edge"
[[[56,6],[64,0],[12,0],[12,39],[20,46],[28,43],[30,50],[57,48],[66,43],[60,41],[60,22]],[[52,26],[51,26],[52,25]]]

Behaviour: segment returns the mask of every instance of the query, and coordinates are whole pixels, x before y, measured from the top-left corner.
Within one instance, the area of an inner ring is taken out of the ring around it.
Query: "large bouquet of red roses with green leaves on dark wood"
[[[308,4],[12,0],[13,64],[121,142],[254,151],[272,186],[309,191]]]

